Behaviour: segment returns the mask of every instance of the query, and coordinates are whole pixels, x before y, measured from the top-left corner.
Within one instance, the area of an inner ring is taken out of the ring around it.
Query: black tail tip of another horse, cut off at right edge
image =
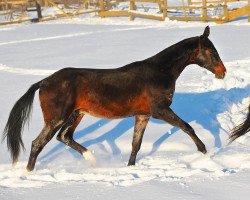
[[[231,134],[229,136],[230,143],[236,140],[238,137],[245,135],[248,131],[250,131],[250,105],[248,107],[246,120],[231,131]]]

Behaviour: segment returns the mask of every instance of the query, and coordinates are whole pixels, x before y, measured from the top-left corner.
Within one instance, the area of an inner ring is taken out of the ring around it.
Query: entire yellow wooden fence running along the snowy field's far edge
[[[127,9],[118,9],[121,2],[128,4]],[[0,17],[5,16],[6,19],[0,22],[0,25],[24,21],[46,21],[60,17],[73,18],[87,13],[96,13],[101,18],[128,16],[130,20],[142,17],[162,21],[167,18],[216,23],[248,16],[250,22],[250,0],[182,0],[181,5],[175,5],[173,2],[168,0],[0,0]],[[235,2],[245,2],[245,4],[239,8],[230,9],[230,4]],[[155,5],[157,13],[148,12],[146,4]],[[51,7],[55,8],[56,13],[44,12]],[[27,12],[31,11],[37,12],[35,19],[28,17]]]

